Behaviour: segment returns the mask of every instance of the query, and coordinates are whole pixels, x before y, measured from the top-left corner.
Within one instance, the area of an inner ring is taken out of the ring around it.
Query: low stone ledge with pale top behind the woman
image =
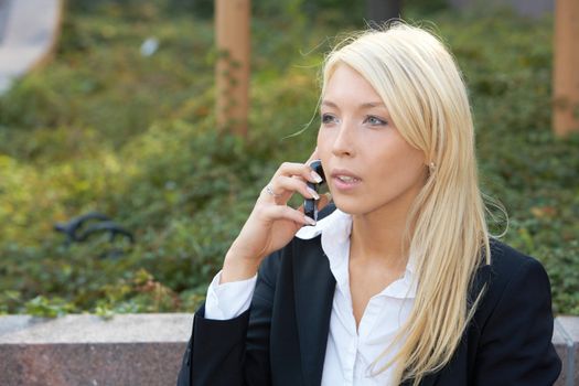
[[[175,385],[191,334],[189,313],[39,319],[0,317],[0,385]],[[579,317],[559,317],[557,386],[579,386]]]

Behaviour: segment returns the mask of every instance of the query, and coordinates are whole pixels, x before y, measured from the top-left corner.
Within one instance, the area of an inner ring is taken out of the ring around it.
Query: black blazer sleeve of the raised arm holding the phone
[[[179,373],[178,386],[268,386],[269,330],[281,251],[259,267],[251,305],[230,320],[205,319],[203,304]]]

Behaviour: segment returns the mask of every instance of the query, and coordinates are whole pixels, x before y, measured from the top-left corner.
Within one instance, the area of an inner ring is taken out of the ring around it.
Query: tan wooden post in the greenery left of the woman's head
[[[247,135],[250,0],[215,0],[216,116],[219,129]]]

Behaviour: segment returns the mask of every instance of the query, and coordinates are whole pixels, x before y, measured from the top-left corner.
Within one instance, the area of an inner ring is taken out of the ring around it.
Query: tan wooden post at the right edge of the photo
[[[579,131],[579,1],[555,3],[553,129],[562,137]]]

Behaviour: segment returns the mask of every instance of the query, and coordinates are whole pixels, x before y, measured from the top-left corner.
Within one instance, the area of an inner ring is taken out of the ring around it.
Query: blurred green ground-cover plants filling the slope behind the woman
[[[323,54],[372,3],[253,0],[239,136],[217,129],[213,1],[65,2],[50,57],[0,96],[0,313],[194,311],[271,173],[311,153]],[[553,1],[471,3],[396,7],[464,73],[481,186],[508,213],[490,207],[493,233],[579,315],[579,136],[551,127]]]

